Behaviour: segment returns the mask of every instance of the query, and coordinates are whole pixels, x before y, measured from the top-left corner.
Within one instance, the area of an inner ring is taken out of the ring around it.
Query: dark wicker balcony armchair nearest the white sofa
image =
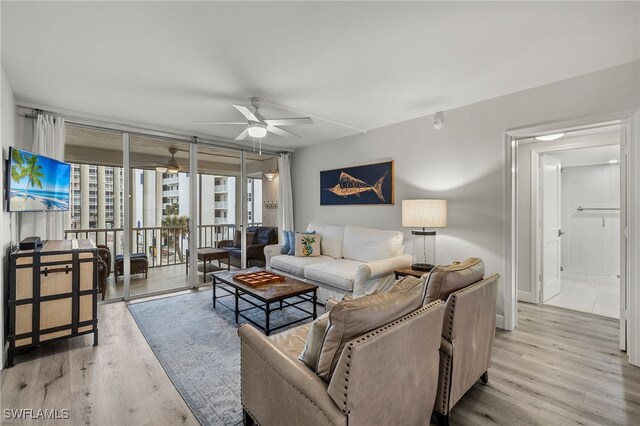
[[[253,238],[250,238],[253,235]],[[266,265],[264,248],[268,245],[278,244],[278,228],[272,226],[250,226],[247,228],[247,267]],[[240,244],[240,231],[235,232],[233,240],[218,242],[217,248],[229,250],[231,266],[240,267],[242,248]]]

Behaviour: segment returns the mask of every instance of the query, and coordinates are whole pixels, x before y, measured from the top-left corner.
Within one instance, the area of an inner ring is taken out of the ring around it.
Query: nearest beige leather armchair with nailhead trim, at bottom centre
[[[419,291],[424,293],[423,285]],[[346,309],[343,306],[362,309],[362,300],[367,297],[386,300],[395,296],[366,296],[340,302],[331,308],[330,315],[333,318],[335,314],[335,318],[329,327],[340,321],[339,316]],[[271,337],[242,325],[238,334],[242,340],[245,424],[428,424],[437,391],[444,303],[421,306],[421,299],[422,295],[418,295],[417,307],[405,311],[408,313],[348,340],[335,352],[333,360],[337,363],[326,381],[320,373],[323,353],[314,364],[315,372],[298,358],[303,348],[306,350],[305,342],[309,345],[307,335],[312,325]],[[394,309],[398,312],[397,307]],[[342,318],[361,315],[352,314]],[[327,329],[324,335],[329,334]],[[331,362],[326,364],[330,365]]]

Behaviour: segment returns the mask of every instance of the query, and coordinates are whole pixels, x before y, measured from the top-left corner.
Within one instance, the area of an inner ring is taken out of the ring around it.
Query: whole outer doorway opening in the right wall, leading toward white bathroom
[[[619,318],[621,349],[625,137],[609,124],[519,139],[515,183],[518,301]]]

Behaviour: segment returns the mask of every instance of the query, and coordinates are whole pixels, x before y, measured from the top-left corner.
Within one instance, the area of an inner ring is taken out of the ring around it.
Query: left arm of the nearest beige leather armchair
[[[259,424],[346,425],[327,384],[253,326],[241,339],[242,405]]]

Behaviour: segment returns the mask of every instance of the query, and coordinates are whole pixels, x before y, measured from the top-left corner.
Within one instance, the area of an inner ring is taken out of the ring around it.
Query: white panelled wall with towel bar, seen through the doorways
[[[564,272],[620,274],[620,211],[578,211],[620,207],[620,165],[562,169],[562,267]]]

